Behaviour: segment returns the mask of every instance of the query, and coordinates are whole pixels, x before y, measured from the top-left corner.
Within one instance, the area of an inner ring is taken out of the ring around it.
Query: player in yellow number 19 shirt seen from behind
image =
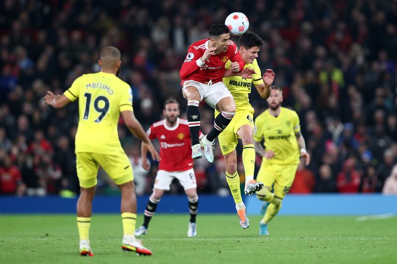
[[[78,77],[63,95],[48,92],[45,103],[55,108],[78,99],[79,122],[75,138],[76,169],[80,184],[77,202],[77,227],[80,255],[94,256],[89,244],[92,200],[97,185],[99,165],[115,181],[121,191],[121,216],[124,237],[122,249],[137,254],[152,252],[135,239],[136,195],[132,166],[117,133],[120,113],[130,131],[144,142],[154,159],[160,160],[150,139],[136,120],[132,108],[132,90],[117,77],[120,71],[120,51],[106,47],[101,51],[101,71]]]

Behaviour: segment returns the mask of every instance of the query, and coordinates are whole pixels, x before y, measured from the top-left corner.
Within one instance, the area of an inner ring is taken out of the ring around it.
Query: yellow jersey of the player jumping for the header
[[[225,64],[226,69],[230,69],[230,60]],[[261,69],[258,66],[257,59],[254,59],[253,63],[245,64],[244,68],[254,68],[255,74],[252,75],[252,79],[243,79],[241,76],[233,76],[223,78],[223,83],[226,85],[232,94],[236,103],[236,111],[252,111],[254,108],[250,104],[248,95],[251,93],[252,84],[261,84],[262,80]]]

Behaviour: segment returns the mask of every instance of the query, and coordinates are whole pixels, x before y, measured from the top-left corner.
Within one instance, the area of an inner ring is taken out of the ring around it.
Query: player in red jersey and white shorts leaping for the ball
[[[230,40],[229,29],[224,24],[213,24],[209,29],[209,39],[193,43],[182,64],[180,76],[183,95],[188,100],[187,115],[192,139],[192,158],[201,158],[199,143],[201,100],[221,112],[214,121],[211,131],[203,137],[204,157],[213,162],[215,138],[226,128],[236,111],[233,96],[222,82],[225,63],[231,60],[231,69],[240,72],[244,60],[236,44]]]

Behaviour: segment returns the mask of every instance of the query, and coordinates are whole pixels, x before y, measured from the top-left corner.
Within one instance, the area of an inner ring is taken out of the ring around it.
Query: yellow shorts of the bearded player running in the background
[[[297,169],[298,164],[272,164],[262,161],[257,181],[270,187],[270,191],[274,189],[274,196],[282,199],[291,189]]]

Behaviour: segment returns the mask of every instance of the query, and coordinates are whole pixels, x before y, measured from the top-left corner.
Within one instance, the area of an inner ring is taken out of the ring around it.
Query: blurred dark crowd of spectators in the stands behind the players
[[[43,101],[48,90],[61,94],[81,74],[99,71],[101,49],[115,46],[122,53],[119,77],[132,87],[134,112],[144,128],[162,118],[169,97],[186,112],[179,70],[187,47],[233,11],[245,13],[250,30],[265,40],[259,65],[263,72],[274,70],[283,106],[301,120],[312,162],[299,166],[290,193],[397,193],[397,1],[253,3],[1,1],[0,194],[79,191],[73,143],[78,105],[48,107]],[[255,115],[266,108],[256,91],[250,102]],[[207,133],[213,110],[202,102],[200,111]],[[140,167],[140,144],[123,120],[119,125],[137,194],[150,193],[156,164],[149,172]],[[213,164],[195,161],[200,193],[229,193],[216,145]],[[241,161],[238,168],[244,179]],[[103,171],[98,191],[117,192]],[[173,185],[171,192],[180,191]]]

